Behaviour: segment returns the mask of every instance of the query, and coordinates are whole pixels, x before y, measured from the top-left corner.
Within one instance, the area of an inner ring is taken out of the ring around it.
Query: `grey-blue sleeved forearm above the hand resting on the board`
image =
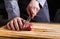
[[[20,10],[17,1],[18,0],[4,0],[9,20],[16,16],[20,16]]]

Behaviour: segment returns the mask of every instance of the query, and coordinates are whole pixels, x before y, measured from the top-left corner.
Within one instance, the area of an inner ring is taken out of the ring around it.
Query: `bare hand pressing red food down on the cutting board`
[[[24,23],[25,20],[23,20],[20,17],[15,17],[14,19],[7,23],[7,28],[10,30],[19,31],[20,29],[22,29]]]

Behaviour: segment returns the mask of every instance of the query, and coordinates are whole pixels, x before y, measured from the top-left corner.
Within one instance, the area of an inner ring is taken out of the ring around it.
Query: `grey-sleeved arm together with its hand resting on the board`
[[[6,26],[10,30],[20,30],[23,25],[22,19],[19,17],[20,11],[17,1],[18,0],[4,0],[9,20]]]

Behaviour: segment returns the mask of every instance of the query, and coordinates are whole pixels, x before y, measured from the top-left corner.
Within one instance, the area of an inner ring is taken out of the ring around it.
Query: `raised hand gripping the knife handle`
[[[36,16],[38,11],[40,10],[38,1],[31,0],[26,9],[29,17],[31,16],[31,18],[34,18],[34,16]]]

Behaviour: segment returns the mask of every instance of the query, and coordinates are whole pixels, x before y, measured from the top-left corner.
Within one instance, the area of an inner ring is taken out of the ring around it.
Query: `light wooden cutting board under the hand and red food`
[[[50,38],[60,39],[60,24],[32,23],[32,31],[12,31],[0,28],[0,36],[16,38]]]

